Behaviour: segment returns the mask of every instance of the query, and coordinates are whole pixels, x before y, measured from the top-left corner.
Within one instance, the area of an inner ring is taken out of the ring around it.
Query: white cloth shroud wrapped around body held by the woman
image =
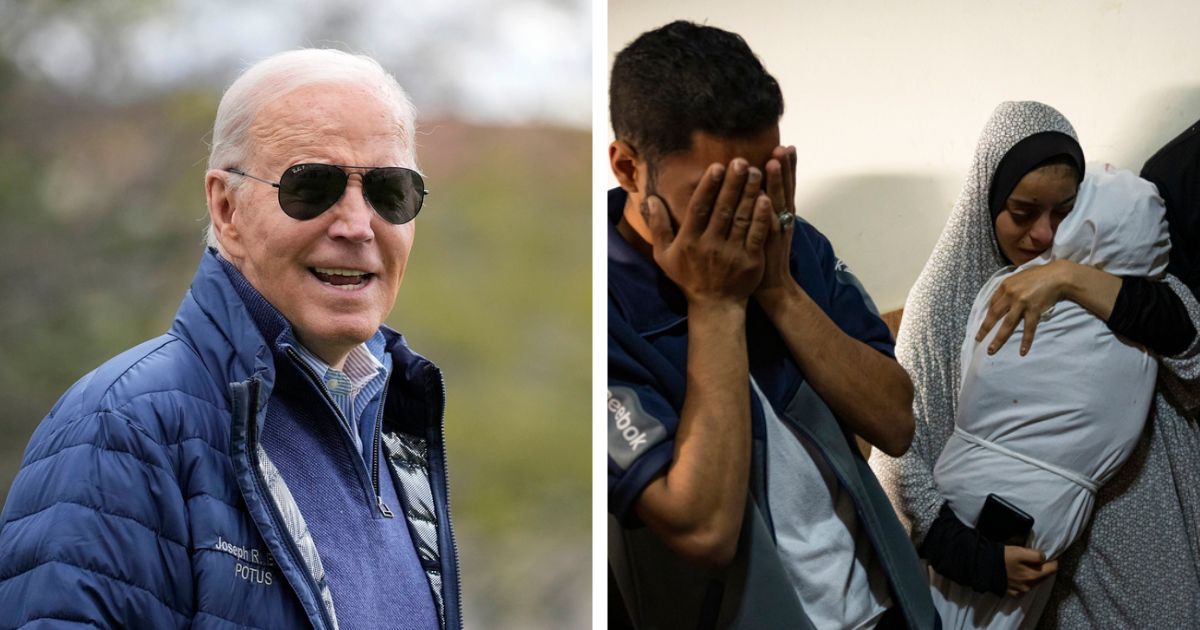
[[[1162,277],[1170,241],[1158,191],[1128,170],[1088,170],[1051,248],[1001,270],[979,290],[962,342],[954,434],[934,468],[964,523],[974,526],[988,494],[998,494],[1033,517],[1026,546],[1048,559],[1080,536],[1097,488],[1133,452],[1153,400],[1157,362],[1066,300],[1042,316],[1026,356],[1019,354],[1024,324],[995,355],[988,346],[1000,325],[982,342],[974,334],[995,289],[1026,268],[1066,259],[1117,276]],[[996,598],[936,574],[934,582],[947,629],[1020,628],[1026,618],[1032,626],[1051,584],[1044,580],[1021,598]]]

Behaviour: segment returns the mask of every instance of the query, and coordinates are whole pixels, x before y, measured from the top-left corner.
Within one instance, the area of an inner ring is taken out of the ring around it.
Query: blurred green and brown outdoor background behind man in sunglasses
[[[162,334],[248,62],[372,54],[433,194],[389,324],[445,372],[466,622],[590,624],[587,1],[0,4],[0,502],[65,389]]]

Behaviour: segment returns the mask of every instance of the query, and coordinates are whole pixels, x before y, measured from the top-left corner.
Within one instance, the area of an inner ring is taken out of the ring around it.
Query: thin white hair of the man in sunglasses
[[[416,110],[396,79],[370,56],[332,48],[301,48],[271,55],[250,66],[229,85],[212,122],[209,168],[242,166],[253,155],[250,128],[258,112],[296,89],[322,83],[349,83],[366,88],[378,96],[379,102],[391,106],[396,113],[396,139],[408,160],[404,166],[416,167],[416,143],[413,138]],[[241,182],[233,180],[229,184],[236,188]],[[211,247],[218,246],[211,221],[205,228],[205,241]]]

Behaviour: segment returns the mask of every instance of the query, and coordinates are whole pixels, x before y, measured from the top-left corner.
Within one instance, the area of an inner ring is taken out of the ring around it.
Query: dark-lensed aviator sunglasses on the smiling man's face
[[[425,180],[421,174],[403,167],[349,167],[344,164],[295,164],[288,167],[280,181],[256,178],[239,168],[227,168],[227,173],[269,184],[280,190],[280,208],[296,221],[316,218],[332,208],[342,193],[350,174],[347,169],[366,170],[362,174],[362,197],[389,223],[408,223],[421,211]]]

